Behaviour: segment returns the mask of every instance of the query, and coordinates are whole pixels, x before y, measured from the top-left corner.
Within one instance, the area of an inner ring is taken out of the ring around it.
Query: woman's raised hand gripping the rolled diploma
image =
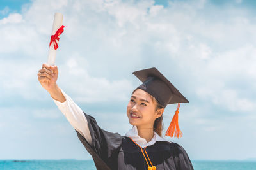
[[[44,63],[38,71],[38,81],[49,93],[56,91],[58,79],[58,67]]]

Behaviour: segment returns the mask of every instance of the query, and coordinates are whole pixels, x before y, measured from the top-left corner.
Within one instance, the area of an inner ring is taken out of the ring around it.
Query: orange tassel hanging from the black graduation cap
[[[180,127],[179,127],[179,108],[180,108],[180,104],[178,103],[177,106],[177,110],[175,111],[175,115],[172,118],[172,122],[170,123],[170,126],[168,127],[165,136],[170,136],[170,137],[176,137],[179,138],[182,136],[182,132],[180,131]]]

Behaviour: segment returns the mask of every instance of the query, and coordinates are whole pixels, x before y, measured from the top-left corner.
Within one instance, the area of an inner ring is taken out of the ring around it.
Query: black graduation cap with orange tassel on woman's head
[[[166,131],[165,136],[172,137],[174,135],[177,138],[182,136],[178,124],[178,114],[180,103],[188,103],[188,99],[186,99],[186,97],[184,97],[155,67],[135,71],[132,74],[143,82],[137,89],[142,89],[145,90],[145,92],[148,92],[148,94],[155,97],[158,103],[164,106],[164,108],[167,104],[178,103],[177,110],[175,111],[175,115],[172,118],[172,122]]]

